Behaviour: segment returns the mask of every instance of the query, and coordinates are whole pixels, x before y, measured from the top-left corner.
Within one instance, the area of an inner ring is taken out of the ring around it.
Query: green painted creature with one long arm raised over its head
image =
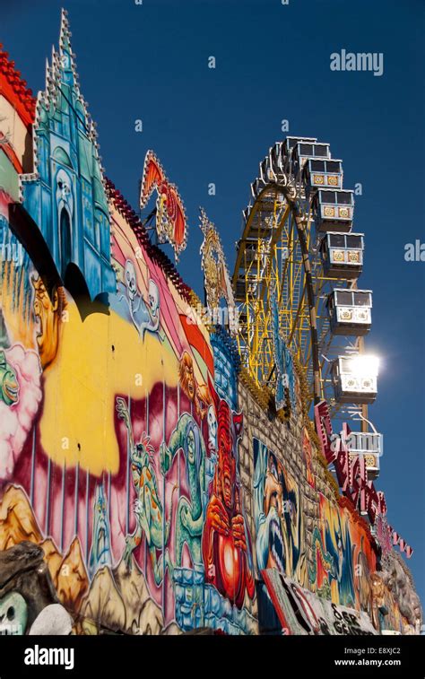
[[[117,396],[117,413],[118,417],[126,423],[128,431],[131,472],[134,490],[137,494],[137,499],[134,501],[136,527],[133,535],[126,536],[126,548],[123,558],[126,561],[127,568],[130,570],[133,565],[132,554],[141,543],[143,534],[146,535],[155,583],[159,585],[163,578],[164,560],[162,553],[159,558],[157,557],[157,550],[162,550],[163,544],[166,544],[168,541],[169,520],[165,521],[165,526],[163,526],[164,514],[151,458],[154,450],[150,437],[145,433],[143,433],[139,443],[134,443],[130,413],[128,412],[126,401],[119,396]],[[165,562],[171,571],[168,553],[166,553]]]

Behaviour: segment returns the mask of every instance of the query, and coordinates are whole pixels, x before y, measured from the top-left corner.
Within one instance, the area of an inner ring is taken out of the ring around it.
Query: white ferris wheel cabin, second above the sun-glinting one
[[[326,233],[320,244],[325,274],[331,278],[352,280],[363,268],[362,233]]]

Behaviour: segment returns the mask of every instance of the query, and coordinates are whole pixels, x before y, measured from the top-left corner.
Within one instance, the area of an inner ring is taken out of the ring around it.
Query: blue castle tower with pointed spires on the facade
[[[46,87],[37,98],[33,152],[33,172],[21,175],[22,203],[46,240],[58,275],[65,283],[73,265],[71,271],[79,269],[91,299],[116,292],[104,170],[65,10],[59,48],[52,49]]]

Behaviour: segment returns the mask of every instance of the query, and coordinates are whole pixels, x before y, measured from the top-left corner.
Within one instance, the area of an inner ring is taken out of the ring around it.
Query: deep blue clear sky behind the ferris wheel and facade
[[[33,91],[57,44],[56,0],[2,2],[2,35]],[[203,205],[221,231],[230,270],[249,184],[285,135],[317,136],[361,182],[355,230],[366,234],[360,284],[374,292],[370,353],[382,357],[370,416],[385,436],[376,483],[390,523],[414,548],[424,580],[425,263],[404,245],[424,233],[422,0],[72,0],[65,8],[82,92],[98,123],[108,177],[137,207],[147,149],[186,205],[189,243],[179,271],[198,293]],[[341,49],[382,52],[384,74],[333,72]],[[208,57],[216,58],[214,70]],[[143,133],[134,120],[143,120]],[[208,196],[210,182],[216,195]]]

